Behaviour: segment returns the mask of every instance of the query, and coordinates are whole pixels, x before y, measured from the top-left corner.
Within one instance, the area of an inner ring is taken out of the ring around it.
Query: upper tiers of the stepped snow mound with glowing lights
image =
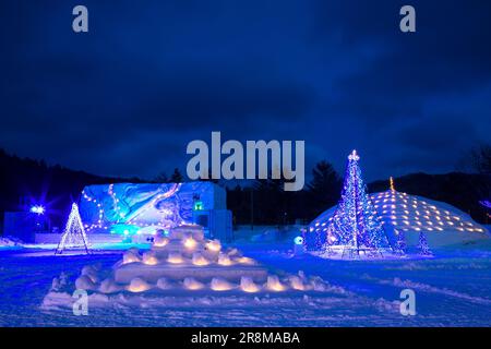
[[[166,279],[183,282],[183,288],[191,290],[203,288],[204,282],[211,282],[213,289],[220,284],[217,279],[239,285],[242,277],[262,282],[267,279],[267,272],[238,250],[221,251],[218,240],[204,239],[201,226],[181,226],[170,230],[168,237],[159,234],[152,249],[143,254],[135,249],[127,251],[113,275],[120,284],[142,278],[157,285]],[[131,291],[131,287],[128,289]]]

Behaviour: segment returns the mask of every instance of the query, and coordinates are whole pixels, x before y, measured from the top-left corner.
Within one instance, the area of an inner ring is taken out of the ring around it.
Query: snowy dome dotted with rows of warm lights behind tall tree
[[[403,232],[409,245],[416,245],[419,233],[427,234],[430,246],[463,243],[488,237],[488,230],[458,208],[426,197],[409,195],[396,190],[370,195],[384,229],[392,237]],[[326,232],[335,207],[315,218],[309,226],[308,245],[314,243],[314,234]],[[325,237],[324,237],[325,239]]]

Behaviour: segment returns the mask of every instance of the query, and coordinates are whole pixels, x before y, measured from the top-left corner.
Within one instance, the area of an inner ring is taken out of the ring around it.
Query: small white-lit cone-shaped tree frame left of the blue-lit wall
[[[80,218],[79,206],[73,203],[61,241],[55,254],[61,254],[64,250],[82,248],[88,254],[87,236]]]

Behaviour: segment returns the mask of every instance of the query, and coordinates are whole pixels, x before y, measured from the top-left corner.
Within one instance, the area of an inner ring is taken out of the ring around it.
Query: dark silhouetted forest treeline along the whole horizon
[[[107,178],[61,166],[48,166],[43,160],[20,158],[0,149],[0,220],[5,210],[28,209],[43,203],[55,226],[61,226],[71,203],[77,201],[82,189],[89,184],[117,182],[178,182],[183,180],[179,169],[171,176],[158,174],[152,181],[139,178]],[[216,182],[216,181],[215,181]],[[218,183],[220,184],[220,183]],[[309,222],[335,205],[339,198],[342,177],[327,161],[312,169],[312,179],[299,192],[285,192],[283,180],[256,180],[227,188],[227,206],[233,222],[284,225]],[[491,174],[452,172],[447,174],[414,173],[395,178],[396,190],[452,204],[476,220],[487,222],[480,200],[491,196]],[[388,180],[368,184],[370,192],[388,189]]]

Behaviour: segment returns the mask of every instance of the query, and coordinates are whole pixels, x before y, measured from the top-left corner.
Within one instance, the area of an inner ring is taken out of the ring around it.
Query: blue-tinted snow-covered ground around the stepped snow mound
[[[274,234],[278,238],[278,234]],[[243,294],[182,292],[165,298],[121,296],[87,316],[41,306],[52,279],[73,281],[85,265],[110,270],[122,251],[55,256],[47,249],[0,249],[1,326],[490,326],[491,242],[434,250],[434,258],[331,261],[292,255],[272,237],[233,243],[272,273],[320,276],[327,291]],[[286,242],[285,242],[286,241]],[[416,316],[399,313],[400,291],[416,292]]]

